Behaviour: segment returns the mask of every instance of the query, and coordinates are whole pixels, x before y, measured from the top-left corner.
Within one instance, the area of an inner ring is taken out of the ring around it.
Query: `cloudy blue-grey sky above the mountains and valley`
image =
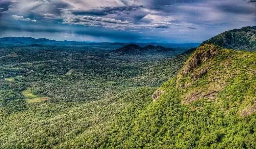
[[[256,0],[0,0],[0,37],[202,42],[256,25]]]

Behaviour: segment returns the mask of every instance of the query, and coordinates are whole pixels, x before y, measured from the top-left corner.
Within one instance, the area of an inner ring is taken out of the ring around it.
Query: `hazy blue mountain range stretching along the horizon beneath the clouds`
[[[16,46],[87,46],[91,48],[102,48],[106,50],[118,49],[129,44],[137,44],[139,46],[164,46],[168,48],[192,48],[197,47],[201,43],[121,43],[121,42],[83,42],[83,41],[56,41],[45,38],[31,38],[31,37],[4,37],[0,38],[0,44],[16,45]]]

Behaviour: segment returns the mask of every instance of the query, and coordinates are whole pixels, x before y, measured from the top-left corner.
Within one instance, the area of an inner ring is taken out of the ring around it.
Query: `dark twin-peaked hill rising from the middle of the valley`
[[[160,45],[147,45],[145,47],[141,47],[136,44],[129,44],[122,48],[113,50],[110,52],[112,55],[144,55],[144,54],[168,54],[174,55],[176,53],[175,49],[166,48]]]

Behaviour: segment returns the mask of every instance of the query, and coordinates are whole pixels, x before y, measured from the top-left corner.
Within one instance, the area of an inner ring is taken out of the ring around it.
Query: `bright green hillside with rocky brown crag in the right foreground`
[[[256,53],[209,44],[195,52],[209,48],[218,54],[165,82],[162,96],[131,121],[119,118],[106,147],[255,148]]]

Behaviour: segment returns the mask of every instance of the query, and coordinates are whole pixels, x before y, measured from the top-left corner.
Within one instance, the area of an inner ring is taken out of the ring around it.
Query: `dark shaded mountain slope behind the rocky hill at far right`
[[[205,43],[213,43],[235,50],[256,51],[256,26],[226,31],[204,41],[202,44]]]

